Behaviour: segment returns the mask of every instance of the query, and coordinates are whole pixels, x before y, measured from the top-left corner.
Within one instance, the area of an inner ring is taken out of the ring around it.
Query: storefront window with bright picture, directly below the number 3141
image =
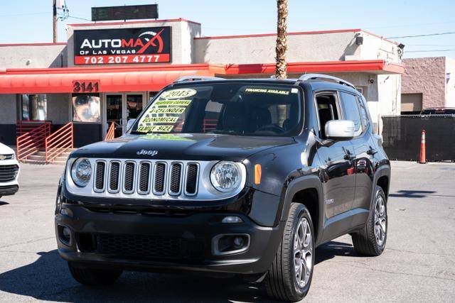
[[[100,94],[73,94],[73,121],[101,122]]]

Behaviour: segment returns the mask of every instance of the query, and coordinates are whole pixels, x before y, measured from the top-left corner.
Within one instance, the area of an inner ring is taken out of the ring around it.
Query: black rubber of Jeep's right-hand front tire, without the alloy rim
[[[309,279],[304,285],[298,284],[294,260],[294,236],[302,218],[306,219],[311,233],[311,267],[309,267]],[[289,216],[284,227],[282,242],[279,245],[272,266],[269,268],[264,279],[264,288],[267,295],[280,301],[298,302],[309,291],[311,278],[314,270],[314,228],[311,216],[303,204],[292,203]]]

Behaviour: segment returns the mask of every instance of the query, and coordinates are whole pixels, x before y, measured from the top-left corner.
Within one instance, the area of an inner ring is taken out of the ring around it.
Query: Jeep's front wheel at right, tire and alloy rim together
[[[297,302],[309,291],[314,268],[314,228],[308,209],[292,203],[274,262],[265,277],[269,297]]]

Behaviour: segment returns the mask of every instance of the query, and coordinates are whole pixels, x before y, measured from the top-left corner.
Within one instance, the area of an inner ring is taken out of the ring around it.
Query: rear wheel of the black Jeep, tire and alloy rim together
[[[387,241],[387,199],[381,187],[376,186],[373,209],[360,231],[351,234],[355,251],[360,255],[380,255]]]

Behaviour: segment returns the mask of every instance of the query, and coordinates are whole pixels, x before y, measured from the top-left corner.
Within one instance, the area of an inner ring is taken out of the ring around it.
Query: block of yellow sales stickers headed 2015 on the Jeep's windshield
[[[184,113],[191,104],[196,89],[171,89],[154,101],[139,121],[139,133],[171,133],[183,125]]]

